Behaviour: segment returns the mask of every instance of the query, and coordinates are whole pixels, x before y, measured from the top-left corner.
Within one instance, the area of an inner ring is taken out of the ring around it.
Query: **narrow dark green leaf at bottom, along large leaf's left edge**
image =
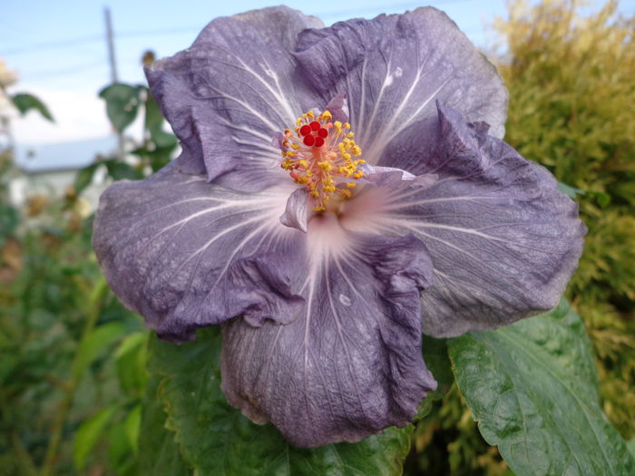
[[[159,384],[163,378],[151,375],[148,380],[139,439],[140,474],[188,476],[192,471],[183,461],[179,445],[175,442],[175,433],[166,427],[168,415],[163,411],[163,405],[158,399]]]

